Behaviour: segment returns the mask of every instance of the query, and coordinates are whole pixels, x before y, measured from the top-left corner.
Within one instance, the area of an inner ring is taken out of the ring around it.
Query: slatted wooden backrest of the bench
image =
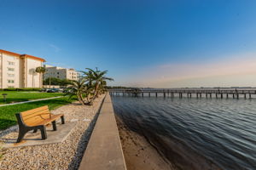
[[[32,124],[42,122],[45,119],[49,119],[51,113],[49,112],[48,105],[44,105],[43,107],[38,107],[29,111],[23,111],[20,113],[20,116],[22,117],[23,122],[27,126],[30,126]]]

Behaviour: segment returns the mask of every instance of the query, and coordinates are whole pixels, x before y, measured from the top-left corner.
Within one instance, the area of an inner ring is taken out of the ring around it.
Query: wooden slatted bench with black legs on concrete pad
[[[19,143],[28,131],[33,130],[34,133],[41,131],[42,139],[47,139],[46,125],[52,123],[53,130],[56,131],[56,120],[61,117],[61,123],[64,124],[64,115],[53,115],[49,111],[48,105],[38,107],[29,111],[23,111],[16,114],[19,124],[19,137],[17,143]]]

